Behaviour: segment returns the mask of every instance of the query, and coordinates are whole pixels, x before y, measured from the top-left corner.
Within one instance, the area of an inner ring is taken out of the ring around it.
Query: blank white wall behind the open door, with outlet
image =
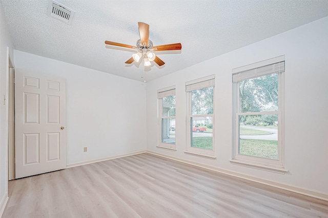
[[[14,55],[15,72],[66,79],[68,164],[146,150],[145,83],[17,50]]]

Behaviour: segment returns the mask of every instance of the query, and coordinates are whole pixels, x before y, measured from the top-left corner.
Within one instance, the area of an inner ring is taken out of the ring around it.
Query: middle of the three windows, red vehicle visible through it
[[[189,102],[186,153],[214,156],[214,75],[186,82]]]

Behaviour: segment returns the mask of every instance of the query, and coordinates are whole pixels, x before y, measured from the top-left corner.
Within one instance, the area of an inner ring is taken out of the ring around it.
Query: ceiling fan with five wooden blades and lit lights
[[[105,41],[105,44],[128,47],[130,49],[136,49],[137,53],[132,55],[132,58],[127,60],[126,64],[131,64],[133,61],[139,62],[144,60],[144,66],[151,65],[151,61],[154,61],[159,66],[164,65],[165,62],[159,59],[155,53],[156,51],[169,51],[169,50],[181,50],[181,43],[165,44],[153,46],[153,42],[149,40],[149,25],[144,22],[138,22],[140,39],[137,40],[136,46],[122,44],[117,42]]]

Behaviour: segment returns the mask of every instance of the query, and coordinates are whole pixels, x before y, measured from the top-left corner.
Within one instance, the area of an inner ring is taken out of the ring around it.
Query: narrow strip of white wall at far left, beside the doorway
[[[9,54],[13,59],[13,46],[10,39],[9,30],[7,27],[2,4],[0,3],[0,207],[2,201],[7,197],[8,191],[8,126],[7,126],[7,104],[4,105],[4,95],[7,96],[7,46],[9,47]],[[1,213],[0,213],[1,215]]]

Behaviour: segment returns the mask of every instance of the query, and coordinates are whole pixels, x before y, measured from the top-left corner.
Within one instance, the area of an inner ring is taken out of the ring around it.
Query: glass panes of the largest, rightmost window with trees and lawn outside
[[[278,159],[278,74],[239,82],[239,154]],[[261,114],[257,112],[271,112]]]

